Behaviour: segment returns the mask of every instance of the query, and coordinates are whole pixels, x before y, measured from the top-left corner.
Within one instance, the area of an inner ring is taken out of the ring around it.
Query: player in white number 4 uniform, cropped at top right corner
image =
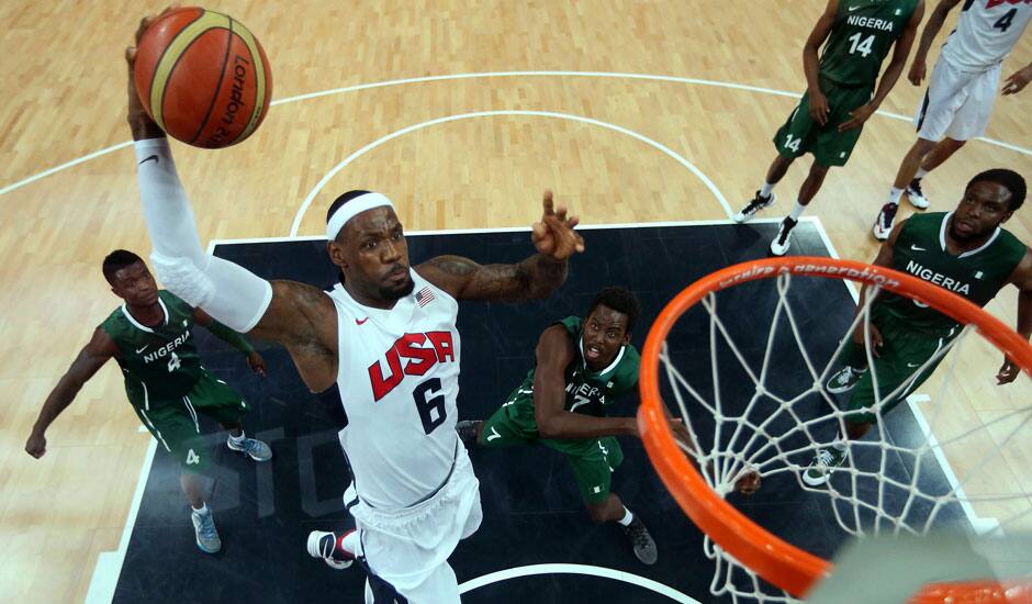
[[[928,51],[946,14],[962,0],[940,0],[932,11],[908,79],[913,86],[924,79]],[[907,193],[919,210],[929,206],[921,179],[939,167],[971,138],[981,136],[989,123],[1003,59],[1032,21],[1032,0],[963,0],[961,19],[939,54],[928,90],[913,122],[918,139],[907,152],[888,202],[874,222],[874,236],[888,238]],[[1003,85],[1003,94],[1020,92],[1032,80],[1032,63],[1014,71]]]

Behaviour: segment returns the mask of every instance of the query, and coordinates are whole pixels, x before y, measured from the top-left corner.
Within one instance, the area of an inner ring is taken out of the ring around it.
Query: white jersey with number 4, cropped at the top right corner
[[[1032,19],[1032,0],[965,0],[942,58],[962,71],[985,71],[1003,60]]]

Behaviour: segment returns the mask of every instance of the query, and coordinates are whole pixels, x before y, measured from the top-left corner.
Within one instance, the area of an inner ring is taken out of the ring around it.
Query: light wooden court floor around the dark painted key
[[[259,36],[278,104],[238,147],[177,146],[179,171],[202,239],[318,234],[328,202],[354,188],[389,194],[410,230],[528,225],[546,187],[584,223],[726,220],[725,204],[750,198],[773,158],[822,5],[226,0],[210,8]],[[0,3],[0,601],[85,597],[99,552],[117,547],[147,450],[114,363],[48,430],[46,457],[23,446],[46,394],[116,305],[101,259],[149,250],[132,150],[110,149],[130,138],[122,52],[139,15],[160,8]],[[1032,34],[1005,76],[1029,61]],[[355,88],[378,82],[396,83]],[[910,115],[922,92],[901,78],[882,109]],[[998,99],[986,136],[1003,145],[973,142],[933,172],[933,208],[952,209],[986,168],[1032,179],[1030,115],[1032,87]],[[912,135],[907,121],[875,115],[850,164],[829,175],[810,215],[842,257],[874,257],[870,226]],[[790,208],[809,159],[798,164],[766,215]],[[1032,203],[1008,227],[1032,243]],[[1016,307],[1009,289],[988,310],[1013,324]],[[1028,377],[995,385],[1000,360],[963,356],[963,388],[936,430],[1032,400]],[[1032,437],[1013,445],[977,481],[983,492],[1028,489]],[[961,472],[966,459],[951,465]]]

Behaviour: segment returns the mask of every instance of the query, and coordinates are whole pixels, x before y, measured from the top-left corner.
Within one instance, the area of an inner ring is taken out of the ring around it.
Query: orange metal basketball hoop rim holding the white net
[[[695,465],[688,461],[674,441],[663,413],[659,388],[660,351],[681,315],[710,292],[747,281],[776,277],[782,272],[849,279],[876,284],[919,300],[963,324],[974,324],[983,337],[996,345],[1030,376],[1032,346],[996,317],[947,290],[896,270],[832,258],[792,256],[730,266],[692,283],[663,309],[649,331],[641,360],[638,427],[649,458],[681,508],[717,545],[765,581],[801,597],[811,585],[831,572],[831,562],[772,535],[709,488]],[[954,583],[949,586],[929,585],[919,599],[932,599],[920,600],[921,602],[943,602],[945,597],[953,596],[963,602],[967,595],[985,597],[995,594],[998,597],[1009,597],[1007,592],[1010,591],[991,582]]]

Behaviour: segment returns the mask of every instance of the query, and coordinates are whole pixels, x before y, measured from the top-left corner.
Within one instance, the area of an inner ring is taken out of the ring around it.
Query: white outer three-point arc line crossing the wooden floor
[[[692,86],[709,86],[714,88],[728,88],[731,90],[743,90],[748,92],[759,92],[762,94],[772,94],[775,97],[789,97],[798,99],[800,94],[798,92],[789,92],[787,90],[776,90],[773,88],[763,88],[759,86],[749,86],[744,83],[733,83],[719,80],[704,80],[697,78],[681,78],[676,76],[658,76],[658,75],[648,75],[648,74],[621,74],[621,72],[609,72],[609,71],[484,71],[475,74],[452,74],[447,76],[426,76],[422,78],[406,78],[397,80],[386,80],[374,83],[360,83],[357,86],[348,86],[344,88],[333,88],[329,90],[323,90],[321,92],[310,92],[307,94],[298,94],[295,97],[288,97],[284,99],[277,99],[272,101],[273,105],[287,104],[296,101],[304,101],[309,99],[315,99],[319,97],[327,97],[330,94],[343,94],[345,92],[355,92],[358,90],[368,90],[372,88],[386,88],[391,86],[400,86],[404,83],[420,83],[420,82],[431,82],[431,81],[448,81],[448,80],[461,80],[461,79],[475,79],[475,78],[519,78],[519,77],[562,77],[562,78],[613,78],[613,79],[632,79],[632,80],[649,80],[649,81],[664,81],[672,83],[687,83]],[[900,115],[898,113],[891,113],[888,111],[878,110],[875,112],[877,115],[884,118],[890,118],[893,120],[900,120],[904,122],[911,121],[911,118],[907,115]],[[996,145],[1008,150],[1017,152],[1022,155],[1032,156],[1032,149],[1021,147],[1019,145],[1012,145],[1010,143],[1005,143],[1002,141],[997,141],[995,138],[986,138],[985,136],[979,136],[976,141],[981,141],[983,143],[988,143],[990,145]],[[61,171],[66,168],[77,166],[83,161],[94,159],[102,155],[106,155],[111,152],[119,150],[123,147],[132,145],[132,141],[124,141],[117,145],[106,147],[97,152],[93,152],[89,155],[85,155],[78,159],[72,159],[59,166],[46,169],[40,174],[33,175],[29,178],[19,180],[0,189],[0,195],[9,193],[15,189],[20,189],[25,184],[40,180],[41,178],[51,176],[52,174]]]

